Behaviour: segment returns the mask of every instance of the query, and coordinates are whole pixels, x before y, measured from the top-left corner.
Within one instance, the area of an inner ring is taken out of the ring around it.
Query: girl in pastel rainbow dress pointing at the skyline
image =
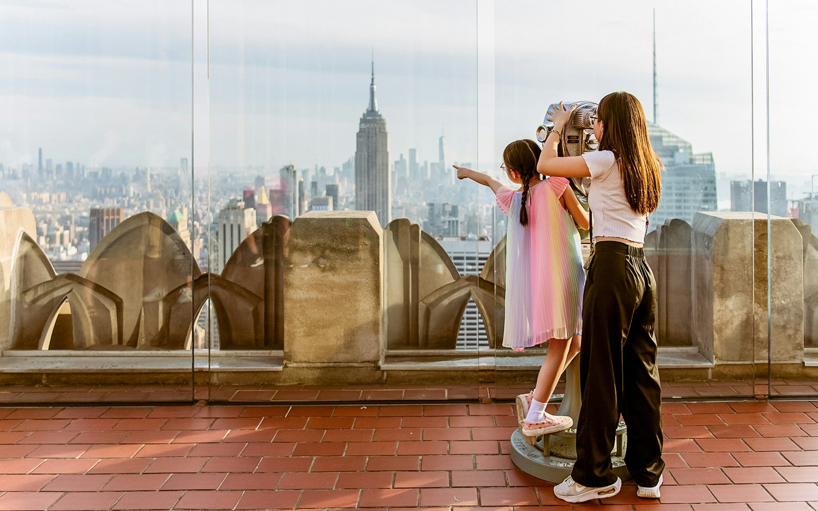
[[[579,352],[585,271],[577,226],[588,228],[588,213],[564,177],[537,173],[541,149],[534,141],[511,142],[501,168],[518,189],[488,174],[454,166],[457,178],[488,186],[508,215],[506,231],[506,326],[503,346],[522,352],[548,343],[537,387],[517,397],[517,415],[526,442],[568,429],[570,417],[551,415],[546,404],[557,380]],[[575,225],[576,224],[576,225]]]

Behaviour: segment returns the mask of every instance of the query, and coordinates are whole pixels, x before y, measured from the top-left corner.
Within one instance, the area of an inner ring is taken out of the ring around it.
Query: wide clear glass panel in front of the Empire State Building
[[[209,2],[214,400],[476,369],[492,242],[452,169],[477,161],[472,8]]]

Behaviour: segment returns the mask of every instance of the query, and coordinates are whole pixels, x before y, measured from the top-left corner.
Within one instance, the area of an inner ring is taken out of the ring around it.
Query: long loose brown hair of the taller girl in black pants
[[[605,128],[600,150],[616,156],[628,204],[636,213],[653,213],[662,195],[664,165],[650,146],[645,110],[636,96],[611,92],[600,100],[596,115]]]

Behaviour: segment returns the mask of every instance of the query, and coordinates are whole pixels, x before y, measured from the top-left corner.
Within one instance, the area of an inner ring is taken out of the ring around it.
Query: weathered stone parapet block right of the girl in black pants
[[[766,363],[767,249],[764,214],[694,217],[694,340],[717,364]],[[802,361],[802,237],[789,218],[771,217],[770,249],[771,358],[773,363]]]

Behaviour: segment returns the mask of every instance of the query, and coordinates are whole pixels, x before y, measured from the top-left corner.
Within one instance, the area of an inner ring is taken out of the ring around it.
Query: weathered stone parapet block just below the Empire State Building
[[[380,363],[383,238],[372,211],[313,211],[293,222],[285,235],[285,366]]]

